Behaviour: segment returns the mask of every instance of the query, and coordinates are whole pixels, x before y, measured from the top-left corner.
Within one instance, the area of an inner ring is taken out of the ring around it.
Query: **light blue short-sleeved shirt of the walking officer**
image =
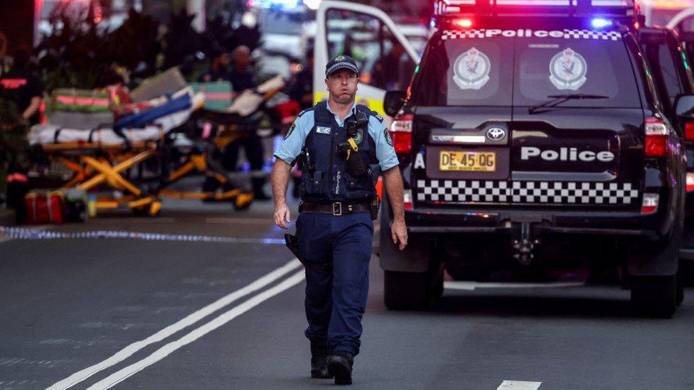
[[[329,104],[326,104],[326,106],[328,107],[328,111],[335,116],[337,124],[343,127],[345,121],[356,112],[357,104],[355,103],[352,105],[350,113],[343,120],[340,120],[338,114],[335,114],[333,110],[330,109]],[[314,128],[314,123],[313,111],[305,112],[298,117],[292,125],[293,129],[289,130],[287,138],[282,141],[282,145],[274,152],[274,156],[281,158],[285,163],[291,164],[292,161],[299,156],[299,153],[301,153],[301,148],[304,147],[306,136],[308,136],[311,129]],[[368,134],[370,134],[373,141],[375,141],[376,158],[378,159],[378,165],[381,170],[388,170],[398,164],[395,148],[393,148],[393,141],[388,141],[390,140],[390,135],[388,135],[388,140],[386,139],[386,131],[388,130],[381,121],[373,117],[373,115],[369,115]]]

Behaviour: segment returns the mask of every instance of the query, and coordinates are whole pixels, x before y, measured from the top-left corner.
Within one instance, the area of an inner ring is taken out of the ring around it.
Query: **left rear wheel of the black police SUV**
[[[385,307],[390,310],[425,310],[429,303],[430,278],[429,271],[384,271]]]

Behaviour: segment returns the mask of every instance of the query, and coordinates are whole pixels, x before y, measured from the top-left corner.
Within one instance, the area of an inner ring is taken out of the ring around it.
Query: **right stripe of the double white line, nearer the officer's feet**
[[[209,332],[212,332],[218,327],[225,325],[234,318],[237,318],[239,315],[242,315],[243,313],[254,308],[255,306],[260,305],[260,303],[264,302],[265,300],[268,300],[269,298],[272,298],[273,296],[276,296],[277,294],[282,293],[283,291],[286,291],[289,288],[297,286],[297,284],[301,283],[302,281],[304,281],[303,270],[294,273],[294,275],[282,281],[282,283],[277,284],[277,286],[268,288],[262,293],[257,294],[257,296],[248,298],[247,300],[245,300],[244,303],[240,303],[234,308],[231,308],[225,313],[219,315],[214,320],[211,320],[209,323],[206,323],[205,325],[201,325],[200,327],[196,328],[196,330],[193,330],[192,332],[181,337],[180,339],[169,342],[169,344],[166,344],[164,345],[164,347],[159,348],[159,350],[152,352],[152,354],[140,360],[139,362],[135,362],[127,367],[124,367],[123,369],[120,369],[117,372],[114,372],[105,379],[102,379],[97,383],[93,384],[92,386],[88,387],[87,390],[110,389],[111,387],[119,384],[125,379],[132,377],[132,375],[137,374],[137,372],[142,371],[142,369],[145,369],[146,367],[151,366],[151,364],[159,362],[159,360],[169,356],[169,354],[178,350],[178,348],[181,348],[195,340],[198,340],[200,337],[207,335]]]

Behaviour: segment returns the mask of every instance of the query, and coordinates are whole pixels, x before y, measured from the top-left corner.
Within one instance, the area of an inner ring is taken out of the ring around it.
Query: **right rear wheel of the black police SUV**
[[[672,317],[677,310],[676,276],[631,276],[631,304],[639,315]]]

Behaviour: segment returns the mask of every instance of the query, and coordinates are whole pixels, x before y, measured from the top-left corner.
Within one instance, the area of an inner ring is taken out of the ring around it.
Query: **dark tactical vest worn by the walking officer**
[[[360,104],[356,109],[367,115],[375,115]],[[376,196],[375,185],[380,166],[375,141],[368,132],[368,126],[363,128],[361,136],[355,137],[367,173],[353,177],[347,172],[346,156],[338,150],[341,143],[347,142],[345,128],[338,126],[326,102],[316,104],[313,111],[315,124],[306,136],[301,156],[301,200],[319,203],[372,200]],[[345,125],[350,119],[346,119]]]

